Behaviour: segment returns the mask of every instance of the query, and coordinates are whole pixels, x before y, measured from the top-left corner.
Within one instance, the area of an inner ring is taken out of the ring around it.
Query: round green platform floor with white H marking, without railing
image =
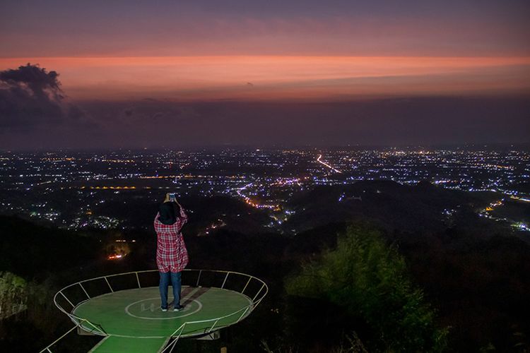
[[[172,301],[171,289],[168,300]],[[183,286],[180,303],[182,311],[160,309],[158,287],[126,289],[93,297],[78,304],[71,312],[78,318],[97,323],[106,335],[119,337],[163,338],[189,337],[208,333],[214,322],[215,330],[237,323],[252,311],[252,299],[245,294],[215,287]],[[248,310],[245,310],[249,308]],[[85,330],[93,330],[88,323],[81,324]]]

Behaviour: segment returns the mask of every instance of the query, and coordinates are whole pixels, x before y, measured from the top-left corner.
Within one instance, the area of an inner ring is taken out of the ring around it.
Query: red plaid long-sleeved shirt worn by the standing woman
[[[188,251],[180,229],[187,222],[188,217],[184,209],[180,208],[180,217],[172,225],[164,225],[155,217],[155,232],[158,238],[156,246],[156,265],[160,272],[180,272],[188,264]]]

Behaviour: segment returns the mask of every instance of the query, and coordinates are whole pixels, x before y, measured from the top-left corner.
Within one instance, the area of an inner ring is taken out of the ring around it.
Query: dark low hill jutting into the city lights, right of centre
[[[429,183],[405,186],[394,181],[359,181],[351,185],[318,186],[290,202],[295,215],[285,229],[311,229],[329,222],[373,220],[389,230],[441,231],[462,214],[479,222],[476,208],[498,198],[494,193],[466,193]],[[497,227],[491,224],[490,227]]]

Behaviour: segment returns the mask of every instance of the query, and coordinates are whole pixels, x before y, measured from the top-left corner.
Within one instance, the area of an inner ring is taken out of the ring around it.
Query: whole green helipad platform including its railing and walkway
[[[41,353],[52,353],[74,330],[104,336],[90,352],[171,352],[180,338],[215,339],[213,333],[249,316],[269,290],[245,273],[184,269],[184,309],[173,311],[170,289],[169,310],[162,311],[158,281],[158,270],[143,270],[67,285],[54,304],[76,325]]]

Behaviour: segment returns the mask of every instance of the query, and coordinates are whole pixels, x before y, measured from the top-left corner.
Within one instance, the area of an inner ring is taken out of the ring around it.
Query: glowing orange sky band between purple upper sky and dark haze
[[[351,99],[528,92],[529,57],[156,56],[2,58],[57,71],[74,100]]]

